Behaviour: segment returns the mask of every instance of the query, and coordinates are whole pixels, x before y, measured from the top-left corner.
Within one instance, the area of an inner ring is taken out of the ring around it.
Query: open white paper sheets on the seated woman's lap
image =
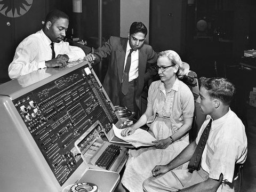
[[[154,138],[149,132],[137,129],[133,134],[128,135],[126,137],[123,137],[121,135],[122,129],[118,129],[113,124],[113,130],[116,135],[116,137],[131,143],[134,147],[141,147],[141,146],[153,146],[155,143],[152,143],[152,141],[156,141],[156,138]]]

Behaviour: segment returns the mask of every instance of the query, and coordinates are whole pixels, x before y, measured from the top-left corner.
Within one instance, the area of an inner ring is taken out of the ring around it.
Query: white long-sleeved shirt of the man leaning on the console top
[[[11,79],[26,75],[37,69],[45,68],[45,61],[52,59],[51,40],[41,29],[35,34],[29,35],[17,47],[13,61],[8,72]],[[84,51],[76,46],[70,46],[68,42],[54,43],[54,52],[66,54],[69,62],[81,60],[85,57]]]

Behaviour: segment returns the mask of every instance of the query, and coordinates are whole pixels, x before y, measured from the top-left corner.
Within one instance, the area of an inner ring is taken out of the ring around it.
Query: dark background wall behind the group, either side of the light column
[[[32,2],[19,2],[25,1]],[[83,1],[83,12],[74,14],[72,0],[41,0],[33,1],[28,12],[21,17],[10,18],[0,14],[0,83],[10,80],[7,68],[17,45],[43,26],[46,13],[52,9],[69,15],[67,37],[72,35],[71,28],[74,28],[74,37],[82,38],[89,46],[96,48],[98,3],[97,0]],[[188,4],[187,0],[102,0],[102,36],[105,39],[111,35],[127,37],[131,23],[140,20],[150,32],[146,42],[155,51],[173,49],[199,76],[213,76],[214,62],[220,66],[223,63],[237,64],[243,50],[255,49],[255,6],[256,3],[250,0],[196,0],[192,4]],[[198,19],[207,21],[205,33],[198,33]],[[76,23],[81,23],[80,27]]]

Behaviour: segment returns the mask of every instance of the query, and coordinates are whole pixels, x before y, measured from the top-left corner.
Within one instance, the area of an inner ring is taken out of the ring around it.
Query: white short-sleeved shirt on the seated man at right
[[[210,115],[206,117],[196,143],[210,121]],[[223,181],[233,182],[236,163],[244,163],[247,156],[247,139],[245,127],[237,115],[229,109],[228,113],[219,119],[212,121],[211,130],[207,139],[201,166],[209,173],[212,179],[219,179],[223,174]]]

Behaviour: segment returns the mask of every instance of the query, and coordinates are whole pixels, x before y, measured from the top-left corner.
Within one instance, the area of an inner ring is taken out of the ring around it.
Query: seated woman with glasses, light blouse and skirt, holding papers
[[[169,163],[189,144],[194,96],[189,87],[179,80],[184,76],[184,65],[188,64],[183,63],[175,51],[159,54],[157,69],[160,80],[149,87],[147,109],[137,123],[121,133],[123,136],[131,135],[147,124],[148,132],[156,138],[154,146],[129,150],[122,184],[130,192],[143,191],[142,182],[152,175],[155,165]],[[177,169],[183,167],[187,169],[187,163]]]

